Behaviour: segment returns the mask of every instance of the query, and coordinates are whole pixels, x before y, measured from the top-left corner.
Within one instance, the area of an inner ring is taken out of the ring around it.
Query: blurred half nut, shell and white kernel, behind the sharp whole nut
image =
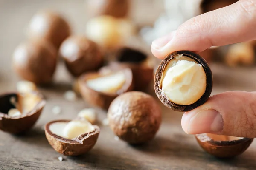
[[[79,77],[79,89],[85,101],[108,109],[113,99],[133,90],[133,75],[129,68],[107,74],[103,71],[83,74]]]

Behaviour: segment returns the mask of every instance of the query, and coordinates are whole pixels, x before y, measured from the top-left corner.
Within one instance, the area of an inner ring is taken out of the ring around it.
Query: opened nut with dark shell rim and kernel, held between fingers
[[[160,101],[174,111],[203,105],[212,92],[212,71],[204,58],[191,51],[176,51],[163,59],[154,78]]]

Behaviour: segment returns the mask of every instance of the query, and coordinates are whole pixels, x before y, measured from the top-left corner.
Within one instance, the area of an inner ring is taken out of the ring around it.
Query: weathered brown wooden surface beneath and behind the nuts
[[[77,0],[0,0],[0,93],[15,90],[17,76],[11,68],[15,46],[25,40],[25,27],[32,14],[41,8],[64,12],[73,24],[74,32],[84,30],[84,1]],[[227,68],[212,64],[214,87],[212,94],[229,90],[253,91],[256,89],[256,68]],[[63,98],[71,89],[72,79],[64,65],[59,65],[54,85],[41,88],[47,105],[35,127],[24,136],[0,132],[0,170],[253,170],[256,169],[256,141],[244,154],[235,159],[216,159],[199,147],[192,135],[180,126],[182,113],[163,109],[163,123],[154,140],[140,146],[130,146],[115,140],[109,127],[102,126],[105,111],[99,111],[101,128],[95,147],[78,157],[61,156],[47,142],[43,126],[55,119],[72,119],[89,107],[81,99],[68,102]],[[154,95],[152,89],[149,93]],[[155,96],[155,95],[154,95]],[[52,108],[61,106],[59,115]]]

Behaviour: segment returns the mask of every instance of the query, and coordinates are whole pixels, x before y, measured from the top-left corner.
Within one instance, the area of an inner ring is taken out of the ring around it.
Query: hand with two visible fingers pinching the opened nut
[[[201,52],[256,39],[256,0],[239,0],[233,5],[194,17],[176,31],[152,42],[152,53],[163,59],[179,50]],[[256,137],[256,92],[230,91],[209,98],[185,112],[181,125],[188,134]]]

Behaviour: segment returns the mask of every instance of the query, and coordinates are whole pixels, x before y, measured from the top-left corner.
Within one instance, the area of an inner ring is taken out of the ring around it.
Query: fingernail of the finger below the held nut
[[[189,115],[188,115],[189,116]],[[186,119],[188,134],[219,132],[223,130],[221,113],[213,109],[203,110]]]

